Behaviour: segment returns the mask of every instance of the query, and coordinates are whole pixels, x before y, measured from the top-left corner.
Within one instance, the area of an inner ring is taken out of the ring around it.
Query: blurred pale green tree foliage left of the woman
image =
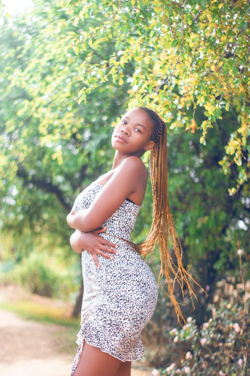
[[[66,51],[74,26],[68,22],[59,32],[59,25],[67,19],[65,9],[51,2],[12,24],[5,19],[0,62],[2,225],[53,232],[62,242],[68,241],[65,211],[76,192],[108,156],[110,167],[110,151],[103,158],[107,114],[114,120],[126,90],[109,80],[84,106],[77,102],[84,56]]]

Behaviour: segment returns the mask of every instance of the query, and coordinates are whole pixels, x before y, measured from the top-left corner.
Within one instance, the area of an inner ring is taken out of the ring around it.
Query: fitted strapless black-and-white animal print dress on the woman
[[[87,209],[102,185],[93,182],[74,202],[75,212]],[[150,319],[157,301],[157,284],[148,265],[132,248],[130,234],[140,206],[126,199],[103,226],[99,236],[117,245],[114,260],[98,257],[98,269],[91,255],[81,253],[83,301],[79,345],[71,376],[78,364],[84,342],[122,360],[142,357],[140,333]]]

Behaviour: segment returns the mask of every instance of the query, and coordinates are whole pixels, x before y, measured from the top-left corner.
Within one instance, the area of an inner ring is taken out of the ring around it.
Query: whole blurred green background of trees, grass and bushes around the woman
[[[167,125],[170,208],[183,263],[207,295],[196,289],[194,310],[176,288],[180,327],[159,289],[135,366],[155,376],[246,374],[247,6],[0,1],[0,308],[59,325],[59,353],[75,352],[83,292],[66,214],[110,169],[112,126],[145,105]],[[134,242],[151,211],[148,183]],[[157,247],[147,262],[159,272]]]

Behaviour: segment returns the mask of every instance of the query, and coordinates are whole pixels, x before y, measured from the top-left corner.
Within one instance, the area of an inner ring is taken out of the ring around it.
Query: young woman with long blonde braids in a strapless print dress
[[[182,314],[173,295],[175,282],[182,293],[185,283],[193,295],[168,206],[165,123],[154,111],[136,107],[115,126],[111,143],[115,149],[111,170],[77,196],[67,216],[68,225],[76,229],[70,237],[71,247],[78,253],[84,249],[74,376],[129,376],[131,360],[141,358],[140,333],[157,301],[157,283],[142,257],[157,242],[161,274],[178,319]],[[145,150],[151,150],[153,220],[146,240],[136,246],[130,234],[146,189],[148,173],[140,159]],[[177,265],[167,252],[169,237]]]

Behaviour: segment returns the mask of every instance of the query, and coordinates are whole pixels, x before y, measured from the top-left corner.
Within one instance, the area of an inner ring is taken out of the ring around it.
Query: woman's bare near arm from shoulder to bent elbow
[[[140,158],[127,157],[105,183],[88,209],[68,214],[68,225],[84,233],[99,228],[129,195],[138,189],[143,190],[144,194],[146,178],[145,167]]]

